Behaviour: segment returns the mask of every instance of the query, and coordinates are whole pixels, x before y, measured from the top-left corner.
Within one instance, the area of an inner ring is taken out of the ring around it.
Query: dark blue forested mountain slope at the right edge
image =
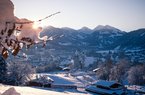
[[[145,48],[145,29],[138,29],[124,34],[121,38],[114,41],[115,47],[120,49],[144,49]]]

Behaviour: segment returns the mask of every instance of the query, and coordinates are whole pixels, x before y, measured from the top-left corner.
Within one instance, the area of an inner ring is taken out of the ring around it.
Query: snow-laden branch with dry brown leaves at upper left
[[[14,16],[14,5],[10,0],[0,0],[0,53],[6,59],[9,53],[16,56],[23,46],[46,42],[40,38],[41,27],[33,28],[34,22]]]

